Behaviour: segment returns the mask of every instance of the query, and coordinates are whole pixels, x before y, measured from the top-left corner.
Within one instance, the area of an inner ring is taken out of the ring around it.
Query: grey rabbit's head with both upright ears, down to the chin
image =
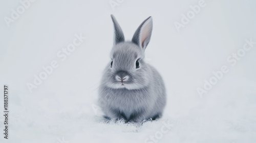
[[[111,88],[140,89],[152,79],[152,71],[144,60],[144,51],[150,42],[153,21],[145,19],[136,30],[132,41],[125,41],[123,32],[111,15],[114,23],[114,45],[111,60],[105,69],[102,82]]]

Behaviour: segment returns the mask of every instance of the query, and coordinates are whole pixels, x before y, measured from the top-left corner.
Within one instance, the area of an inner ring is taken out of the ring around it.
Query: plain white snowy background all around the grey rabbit
[[[113,10],[110,2],[119,3]],[[256,41],[256,2],[205,0],[179,32],[175,21],[202,1],[113,2],[37,0],[10,23],[5,17],[22,4],[1,2],[0,112],[8,84],[10,113],[9,139],[1,134],[0,142],[256,142],[256,44],[232,57],[246,39]],[[110,14],[126,39],[153,17],[147,62],[161,73],[168,95],[158,121],[102,121],[97,88],[113,44]],[[66,58],[57,56],[77,35],[87,39]],[[52,62],[58,66],[30,92],[27,84]],[[228,72],[200,96],[197,89],[222,66]],[[1,115],[0,132],[3,122]]]

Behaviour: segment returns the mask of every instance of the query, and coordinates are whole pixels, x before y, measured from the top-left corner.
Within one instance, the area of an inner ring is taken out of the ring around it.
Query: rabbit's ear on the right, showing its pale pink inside
[[[132,42],[137,44],[143,50],[146,49],[147,44],[150,42],[151,34],[153,29],[153,20],[152,17],[148,17],[144,20],[139,28],[133,35]]]

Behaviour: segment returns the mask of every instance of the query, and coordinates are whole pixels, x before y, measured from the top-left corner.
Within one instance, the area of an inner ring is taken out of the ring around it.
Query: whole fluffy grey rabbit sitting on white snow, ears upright
[[[162,115],[166,93],[158,71],[145,63],[144,51],[151,39],[152,17],[141,23],[132,41],[124,40],[116,18],[111,17],[114,45],[99,87],[99,106],[109,120],[133,123],[156,120]]]

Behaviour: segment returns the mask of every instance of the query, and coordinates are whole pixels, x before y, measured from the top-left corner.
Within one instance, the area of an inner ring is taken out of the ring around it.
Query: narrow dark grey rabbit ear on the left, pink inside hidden
[[[119,26],[116,18],[114,15],[111,14],[111,18],[113,20],[114,23],[114,29],[115,29],[115,33],[114,33],[114,44],[120,43],[120,42],[124,42],[124,36],[123,36],[123,31],[121,29],[121,27]]]

